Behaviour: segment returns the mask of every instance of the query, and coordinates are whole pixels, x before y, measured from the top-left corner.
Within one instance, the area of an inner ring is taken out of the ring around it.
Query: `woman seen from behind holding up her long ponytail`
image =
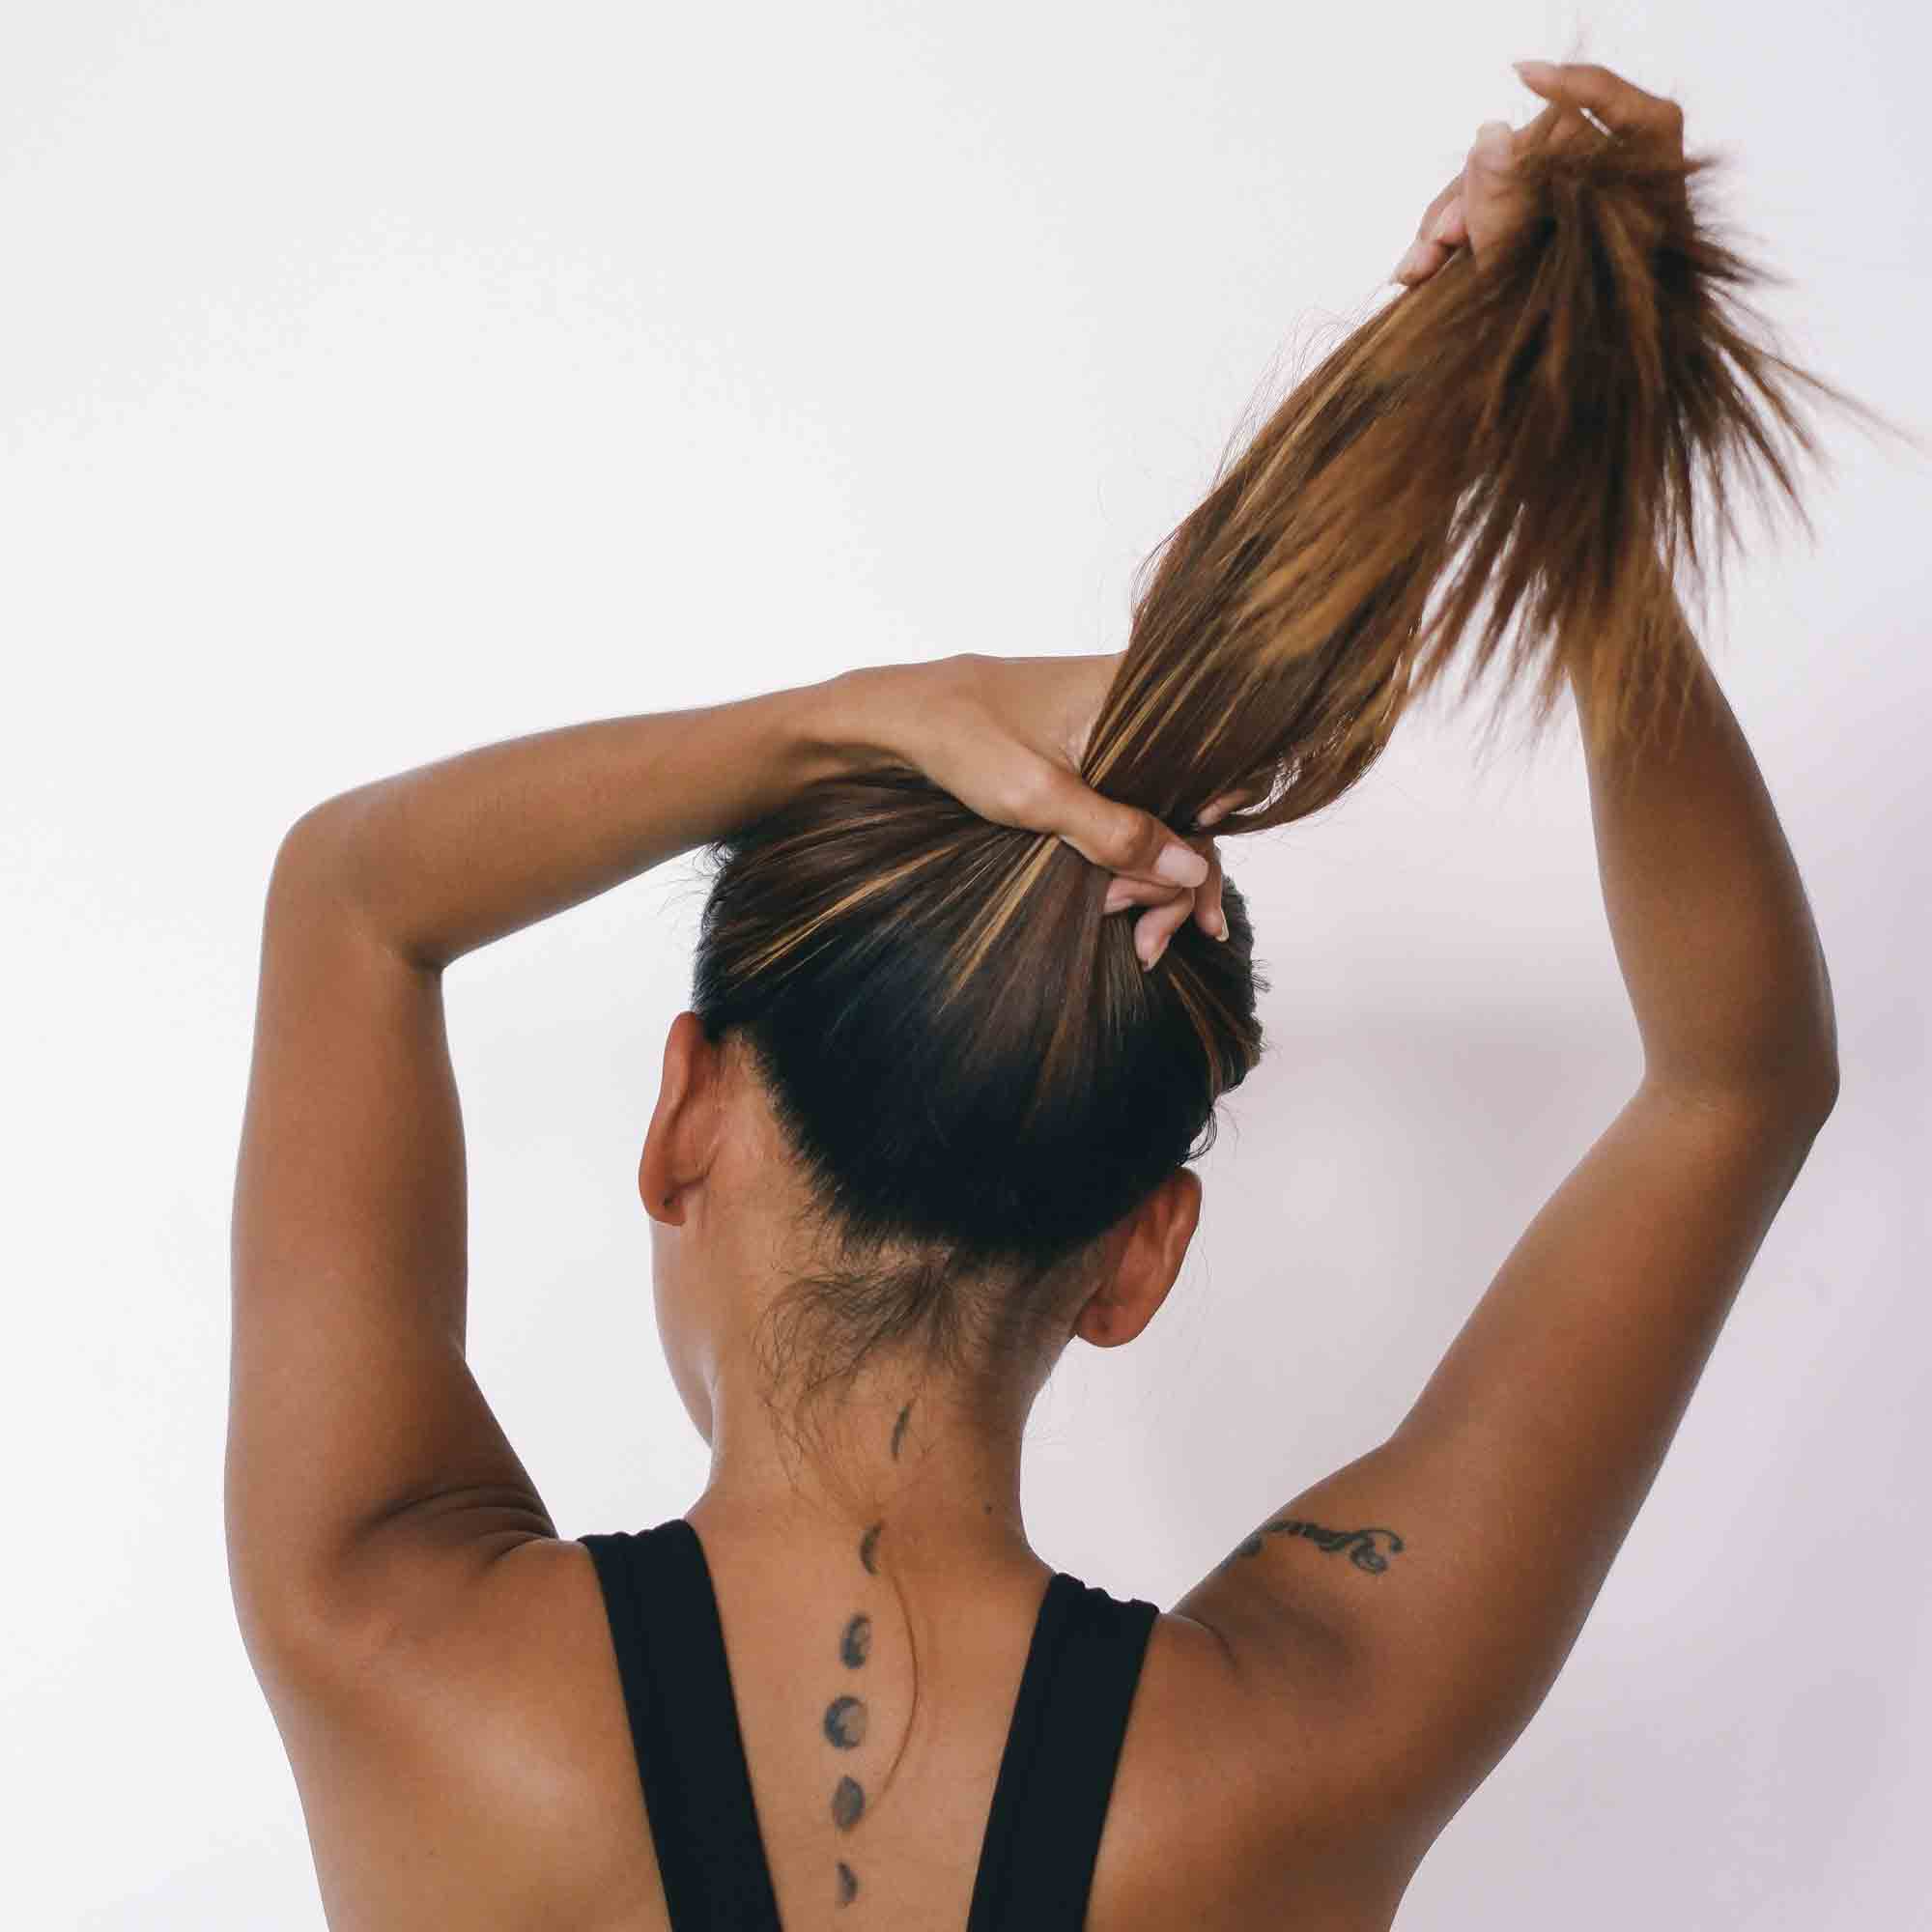
[[[547,732],[284,840],[226,1499],[338,1932],[1387,1926],[1544,1698],[1835,1041],[1673,595],[1694,498],[1789,495],[1770,431],[1824,386],[1725,305],[1675,106],[1522,71],[1544,114],[1484,129],[1119,657]],[[1217,840],[1352,784],[1482,599],[1482,655],[1520,612],[1544,715],[1577,696],[1642,1082],[1385,1443],[1173,1609],[1115,1600],[1030,1548],[1020,1437],[1070,1339],[1161,1306],[1260,1053]],[[694,846],[639,1192],[711,1482],[564,1540],[464,1366],[442,972]]]

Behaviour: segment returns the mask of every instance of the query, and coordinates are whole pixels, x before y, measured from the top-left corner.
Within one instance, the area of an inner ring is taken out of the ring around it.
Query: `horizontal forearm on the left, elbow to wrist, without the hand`
[[[398,952],[440,968],[850,769],[835,682],[483,746],[344,792],[292,838]]]

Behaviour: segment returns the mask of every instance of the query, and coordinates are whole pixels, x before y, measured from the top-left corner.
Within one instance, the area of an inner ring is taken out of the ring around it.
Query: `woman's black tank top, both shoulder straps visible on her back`
[[[781,1932],[711,1567],[682,1517],[580,1536],[597,1567],[676,1932]],[[1159,1615],[1055,1571],[1007,1729],[966,1932],[1080,1932]]]

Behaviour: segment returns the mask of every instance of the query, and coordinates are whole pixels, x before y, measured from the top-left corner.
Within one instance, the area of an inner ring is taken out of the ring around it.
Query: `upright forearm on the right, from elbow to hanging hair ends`
[[[1750,746],[1673,607],[1694,684],[1675,740],[1588,753],[1604,908],[1646,1078],[1826,1092],[1832,983],[1804,883]],[[1588,699],[1571,682],[1590,740]]]

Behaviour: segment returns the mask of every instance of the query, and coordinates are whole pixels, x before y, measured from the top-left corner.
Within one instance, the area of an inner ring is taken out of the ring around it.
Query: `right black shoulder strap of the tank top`
[[[1153,1604],[1055,1571],[985,1820],[966,1932],[1080,1932]]]

